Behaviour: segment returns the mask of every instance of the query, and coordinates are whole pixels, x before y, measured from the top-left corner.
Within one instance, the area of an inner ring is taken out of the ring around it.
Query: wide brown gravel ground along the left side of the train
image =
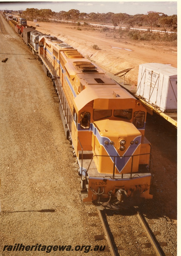
[[[0,57],[8,60],[0,62],[0,255],[7,255],[5,245],[18,243],[94,245],[87,234],[90,223],[84,217],[88,209],[79,193],[78,166],[53,101],[52,83],[3,23],[8,34],[0,34]]]

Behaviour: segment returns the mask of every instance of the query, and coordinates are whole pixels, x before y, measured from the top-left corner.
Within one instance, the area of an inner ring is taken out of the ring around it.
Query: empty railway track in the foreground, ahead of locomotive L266
[[[89,213],[88,216],[99,216],[101,220],[104,235],[96,235],[94,238],[95,240],[107,240],[108,246],[104,252],[110,252],[112,256],[173,256],[171,252],[168,252],[169,248],[167,252],[162,249],[162,247],[167,247],[167,243],[158,242],[155,238],[161,235],[159,231],[153,232],[150,228],[155,222],[146,221],[139,211],[133,215],[120,215],[117,212],[99,209],[97,211]]]

